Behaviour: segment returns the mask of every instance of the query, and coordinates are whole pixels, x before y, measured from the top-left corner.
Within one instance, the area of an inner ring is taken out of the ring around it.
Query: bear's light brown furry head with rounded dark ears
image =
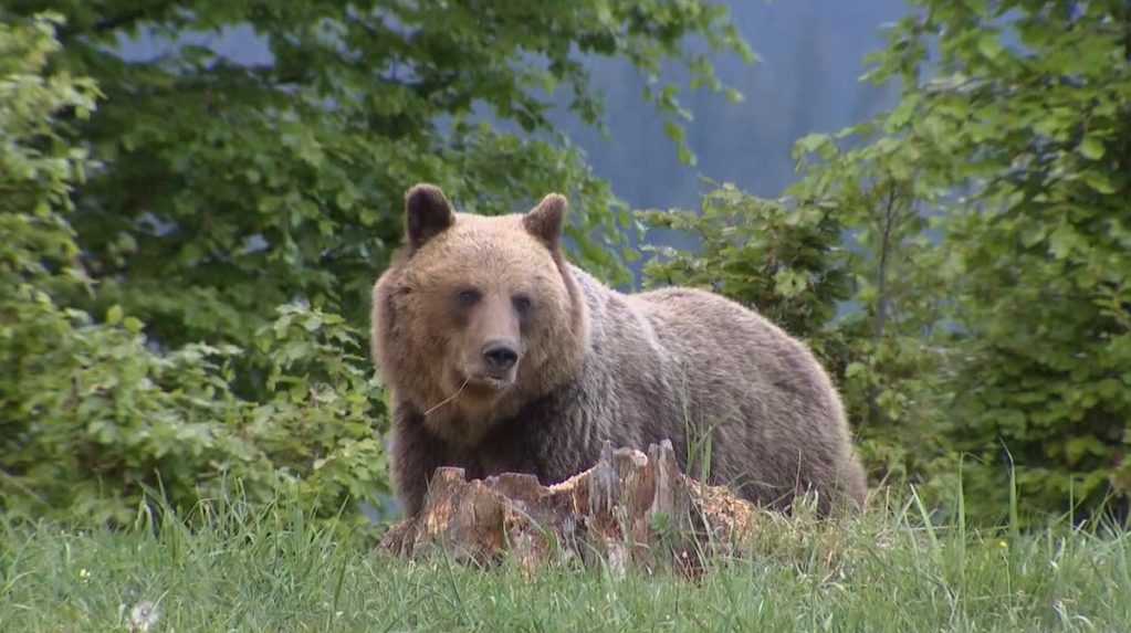
[[[373,288],[373,357],[398,407],[474,445],[581,371],[588,313],[561,250],[566,198],[527,214],[455,213],[405,196],[405,246]]]

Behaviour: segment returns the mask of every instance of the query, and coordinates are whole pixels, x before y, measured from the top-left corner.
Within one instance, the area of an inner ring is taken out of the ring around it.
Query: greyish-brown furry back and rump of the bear
[[[787,504],[808,486],[822,506],[841,491],[863,501],[843,406],[805,345],[720,295],[622,294],[578,279],[590,297],[596,363],[615,365],[619,399],[631,401],[623,423],[641,430],[639,442],[666,434],[690,454],[710,434],[711,480],[763,503]]]

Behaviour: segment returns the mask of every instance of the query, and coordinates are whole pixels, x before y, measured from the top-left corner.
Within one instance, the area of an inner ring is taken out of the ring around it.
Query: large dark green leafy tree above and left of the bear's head
[[[579,55],[618,57],[648,77],[646,92],[676,122],[688,114],[680,89],[656,83],[663,62],[722,90],[707,53],[750,55],[725,8],[700,0],[16,0],[0,16],[44,7],[67,18],[57,62],[107,96],[79,129],[105,168],[75,197],[74,218],[101,285],[71,298],[97,313],[121,305],[164,344],[244,347],[249,389],[261,388],[266,364],[249,344],[273,306],[302,297],[364,322],[416,181],[486,214],[568,193],[580,258],[627,280],[616,257],[627,242],[610,213],[622,205],[554,133],[551,95],[564,90],[578,116],[598,123]],[[236,63],[195,43],[238,27],[273,63]],[[120,38],[138,35],[162,54],[123,60]],[[707,51],[692,51],[692,37]]]

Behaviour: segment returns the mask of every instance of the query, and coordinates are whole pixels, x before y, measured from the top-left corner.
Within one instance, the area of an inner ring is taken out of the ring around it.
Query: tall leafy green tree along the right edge
[[[981,458],[968,488],[985,513],[1010,456],[1029,509],[1089,511],[1131,492],[1131,9],[918,3],[873,73],[904,86],[886,132],[957,194],[950,437]]]

